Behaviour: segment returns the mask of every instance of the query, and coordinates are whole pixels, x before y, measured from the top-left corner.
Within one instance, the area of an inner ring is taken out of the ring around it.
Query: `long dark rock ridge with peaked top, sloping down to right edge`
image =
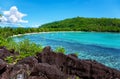
[[[80,60],[74,55],[54,53],[50,48],[44,48],[37,56],[40,63],[56,65],[68,75],[76,75],[83,79],[120,79],[120,71],[106,67],[96,61]]]

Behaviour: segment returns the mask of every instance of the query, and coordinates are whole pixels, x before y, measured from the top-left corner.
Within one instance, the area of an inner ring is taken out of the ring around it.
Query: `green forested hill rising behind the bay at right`
[[[120,19],[76,17],[44,24],[40,28],[53,31],[120,32]]]

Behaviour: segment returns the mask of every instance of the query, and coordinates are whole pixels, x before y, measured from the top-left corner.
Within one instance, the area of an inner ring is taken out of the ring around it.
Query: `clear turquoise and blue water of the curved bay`
[[[63,46],[67,54],[78,52],[81,59],[92,59],[120,70],[120,33],[51,32],[14,37],[15,41],[29,39],[36,44]]]

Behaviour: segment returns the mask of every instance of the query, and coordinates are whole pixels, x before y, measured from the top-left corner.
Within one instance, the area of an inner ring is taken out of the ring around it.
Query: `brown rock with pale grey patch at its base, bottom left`
[[[18,61],[15,65],[8,66],[0,79],[28,79],[34,65],[38,63],[34,57],[27,57]]]

